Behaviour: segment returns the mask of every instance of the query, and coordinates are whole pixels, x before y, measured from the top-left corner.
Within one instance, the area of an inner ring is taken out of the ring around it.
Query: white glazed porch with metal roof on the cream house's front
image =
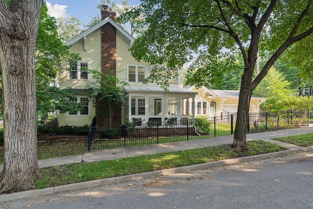
[[[126,93],[125,120],[137,125],[155,122],[172,122],[195,118],[197,92],[180,87],[123,86]]]

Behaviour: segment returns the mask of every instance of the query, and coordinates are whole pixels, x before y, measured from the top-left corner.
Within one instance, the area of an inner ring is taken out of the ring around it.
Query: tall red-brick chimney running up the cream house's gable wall
[[[104,20],[107,17],[116,22],[116,12],[113,12],[109,6],[103,5],[101,19]],[[116,28],[111,23],[106,23],[101,27],[101,72],[109,73],[109,71],[113,71],[116,75]],[[96,109],[101,108],[102,105],[106,104],[96,101]],[[108,116],[109,114],[107,114]],[[96,113],[96,124],[97,126],[107,126],[109,119]],[[121,104],[117,104],[114,108],[112,125],[120,124],[122,124]]]

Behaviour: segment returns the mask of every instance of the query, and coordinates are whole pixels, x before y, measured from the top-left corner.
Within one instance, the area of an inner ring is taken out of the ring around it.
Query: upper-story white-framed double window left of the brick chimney
[[[69,80],[88,80],[89,63],[88,62],[69,62],[67,79]]]

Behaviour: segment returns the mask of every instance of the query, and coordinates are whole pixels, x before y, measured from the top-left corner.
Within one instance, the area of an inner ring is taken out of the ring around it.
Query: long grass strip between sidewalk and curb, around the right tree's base
[[[35,186],[37,188],[61,186],[166,168],[278,152],[287,149],[262,140],[248,141],[247,145],[248,150],[243,152],[234,152],[231,150],[230,144],[227,144],[147,156],[120,158],[110,161],[52,166],[42,169],[44,177],[39,179]]]

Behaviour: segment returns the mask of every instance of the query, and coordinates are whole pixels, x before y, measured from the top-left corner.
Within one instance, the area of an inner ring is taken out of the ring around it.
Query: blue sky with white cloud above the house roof
[[[111,1],[119,4],[123,0]],[[46,0],[45,2],[52,17],[76,17],[83,25],[87,25],[97,14],[100,15],[97,5],[101,0]],[[131,6],[139,3],[140,0],[128,0]]]

